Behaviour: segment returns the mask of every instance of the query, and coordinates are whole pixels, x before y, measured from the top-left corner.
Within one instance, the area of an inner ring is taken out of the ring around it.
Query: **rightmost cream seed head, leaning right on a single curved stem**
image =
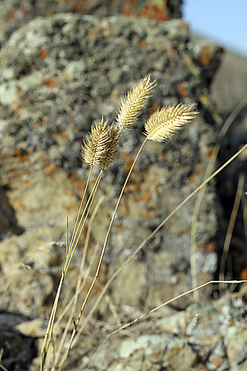
[[[145,123],[144,133],[148,139],[164,141],[191,122],[199,113],[196,103],[179,103],[162,107],[153,112]]]

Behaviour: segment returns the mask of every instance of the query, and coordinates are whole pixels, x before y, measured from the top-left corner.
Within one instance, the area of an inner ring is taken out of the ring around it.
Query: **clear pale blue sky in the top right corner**
[[[182,17],[193,34],[247,57],[247,0],[183,0]]]

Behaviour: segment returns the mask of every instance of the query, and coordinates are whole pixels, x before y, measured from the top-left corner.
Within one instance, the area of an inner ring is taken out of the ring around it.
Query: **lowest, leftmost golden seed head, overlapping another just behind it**
[[[104,122],[103,116],[91,126],[91,133],[82,144],[82,159],[89,166],[101,165],[102,157],[104,158],[109,145],[108,132],[109,126]]]

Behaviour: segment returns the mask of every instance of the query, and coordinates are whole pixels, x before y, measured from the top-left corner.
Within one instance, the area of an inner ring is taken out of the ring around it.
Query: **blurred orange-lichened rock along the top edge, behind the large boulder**
[[[153,18],[166,21],[170,18],[180,18],[181,0],[154,2],[152,0],[136,0],[123,2],[121,0],[2,0],[0,3],[0,44],[3,45],[10,35],[38,16],[54,16],[57,13],[94,14],[97,17],[110,15],[125,15]]]

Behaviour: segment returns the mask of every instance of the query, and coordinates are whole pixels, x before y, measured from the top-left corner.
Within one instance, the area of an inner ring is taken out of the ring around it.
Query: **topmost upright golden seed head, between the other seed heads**
[[[144,77],[122,99],[122,105],[116,117],[121,130],[128,128],[138,119],[146,100],[151,96],[151,92],[156,86],[155,81],[150,82],[150,79],[151,73]]]

